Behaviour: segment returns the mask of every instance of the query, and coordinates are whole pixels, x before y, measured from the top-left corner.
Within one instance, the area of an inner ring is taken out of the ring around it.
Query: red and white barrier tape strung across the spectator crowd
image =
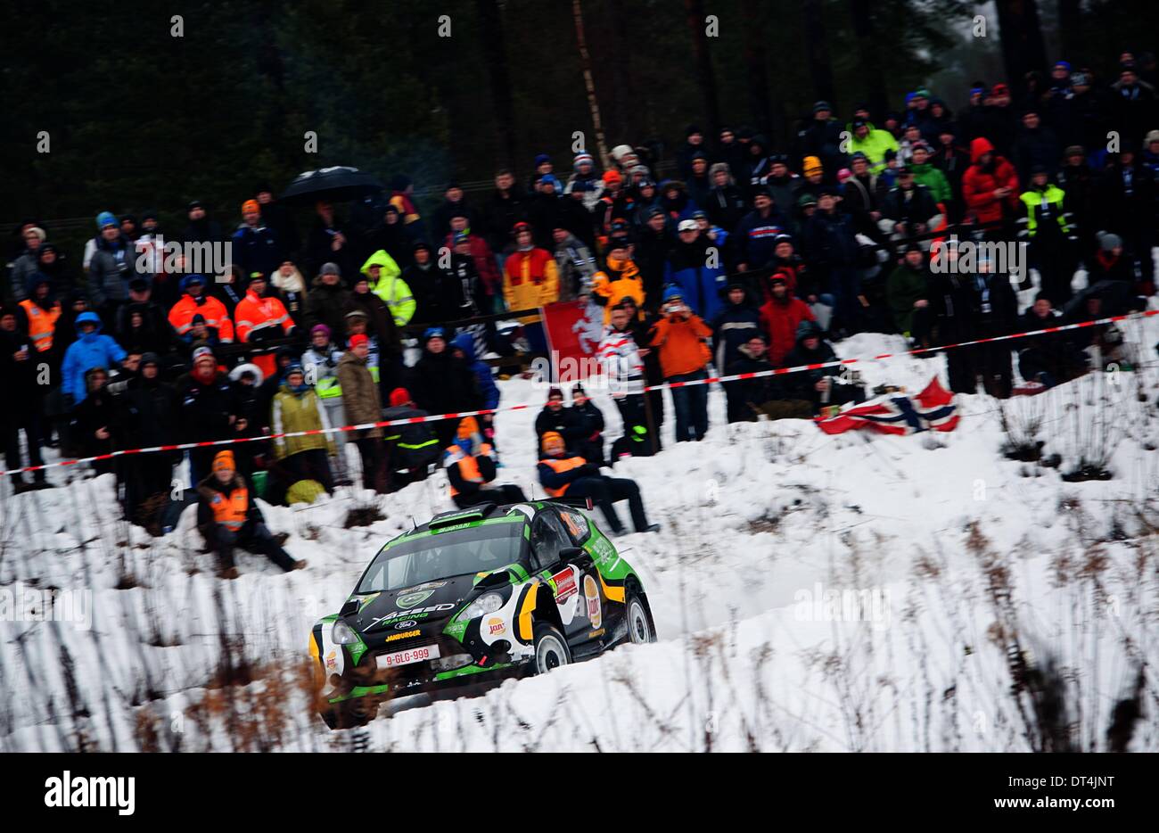
[[[866,357],[854,357],[854,358],[838,358],[832,362],[819,362],[817,364],[799,364],[793,368],[775,368],[773,370],[758,370],[749,374],[732,374],[731,376],[713,376],[705,379],[690,379],[688,382],[664,382],[658,385],[647,385],[642,392],[647,391],[659,391],[665,387],[688,387],[691,385],[707,385],[714,382],[739,382],[742,379],[753,379],[761,376],[781,376],[787,374],[797,374],[804,370],[823,370],[825,368],[841,367],[845,364],[858,364],[861,362],[879,362],[885,358],[899,358],[902,356],[917,356],[925,353],[941,353],[943,350],[953,350],[961,347],[975,347],[977,345],[990,345],[998,341],[1012,341],[1014,339],[1025,339],[1032,335],[1049,335],[1052,333],[1063,333],[1070,329],[1081,329],[1084,327],[1099,327],[1107,324],[1114,324],[1116,321],[1125,321],[1130,319],[1150,318],[1151,316],[1159,316],[1159,310],[1144,310],[1143,312],[1132,312],[1125,316],[1111,316],[1110,318],[1099,318],[1093,321],[1083,321],[1080,324],[1063,324],[1057,327],[1045,327],[1043,329],[1030,329],[1025,333],[1011,333],[1009,335],[993,335],[987,339],[976,339],[974,341],[960,341],[954,345],[943,345],[941,347],[921,347],[916,350],[903,350],[902,353],[882,353],[876,356]],[[639,396],[639,393],[630,393],[628,396]],[[400,425],[413,425],[415,422],[439,422],[445,419],[461,419],[464,416],[484,416],[488,414],[500,413],[501,411],[525,411],[530,407],[538,407],[530,404],[525,405],[509,405],[503,408],[483,408],[481,411],[464,411],[461,413],[447,413],[447,414],[431,414],[429,416],[408,416],[406,419],[395,420],[382,420],[379,422],[364,422],[362,425],[348,425],[337,428],[315,428],[312,430],[299,430],[290,432],[286,434],[263,434],[261,436],[245,436],[245,437],[232,437],[229,440],[206,440],[204,442],[183,442],[174,443],[172,446],[155,446],[153,448],[131,448],[121,451],[109,451],[108,454],[99,454],[95,457],[79,457],[76,459],[60,459],[54,463],[44,463],[43,465],[29,465],[23,469],[9,469],[7,471],[0,471],[0,477],[6,477],[8,475],[20,475],[27,471],[41,471],[43,469],[53,469],[64,465],[79,465],[81,463],[95,463],[104,459],[114,459],[116,457],[129,457],[138,454],[153,454],[156,451],[185,451],[188,449],[195,448],[211,448],[214,446],[233,446],[243,442],[258,442],[262,440],[283,440],[287,437],[296,436],[315,436],[318,434],[337,434],[341,432],[349,430],[366,430],[369,428],[386,428],[388,426],[400,426]]]

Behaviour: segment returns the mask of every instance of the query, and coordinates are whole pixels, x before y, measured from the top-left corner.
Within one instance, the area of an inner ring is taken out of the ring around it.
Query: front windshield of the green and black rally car
[[[518,521],[484,523],[402,539],[374,557],[356,593],[399,591],[512,564],[519,560],[523,527]]]

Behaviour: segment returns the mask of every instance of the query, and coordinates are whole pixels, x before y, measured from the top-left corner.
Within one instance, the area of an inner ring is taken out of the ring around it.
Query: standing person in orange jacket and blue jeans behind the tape
[[[700,320],[680,295],[679,287],[664,290],[659,320],[653,329],[651,346],[659,354],[665,382],[695,382],[708,378],[706,365],[712,358],[707,339],[712,328]],[[676,408],[676,441],[704,440],[708,432],[708,385],[694,384],[672,389]]]

